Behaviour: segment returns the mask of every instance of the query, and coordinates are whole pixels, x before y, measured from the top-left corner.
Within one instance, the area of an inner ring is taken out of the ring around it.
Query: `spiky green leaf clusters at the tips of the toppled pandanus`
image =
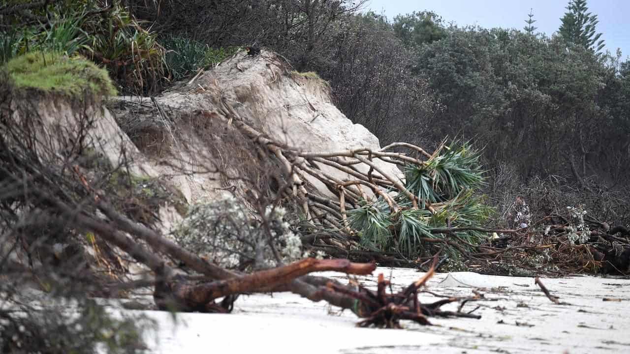
[[[350,226],[359,231],[361,244],[415,258],[436,244],[444,245],[447,239],[464,248],[469,247],[468,243],[478,243],[483,236],[481,232],[457,232],[458,239],[432,232],[445,227],[478,226],[490,215],[491,208],[475,194],[483,184],[478,159],[479,153],[467,144],[454,142],[451,147],[444,146],[421,168],[408,167],[406,188],[418,196],[421,208],[412,208],[411,200],[404,193],[398,193],[394,197],[400,207],[398,211],[391,210],[382,198],[348,210]],[[427,203],[432,204],[435,213],[425,208]],[[440,242],[432,243],[427,239]],[[460,240],[466,242],[460,243]],[[444,246],[444,249],[451,256],[457,254],[452,246]]]

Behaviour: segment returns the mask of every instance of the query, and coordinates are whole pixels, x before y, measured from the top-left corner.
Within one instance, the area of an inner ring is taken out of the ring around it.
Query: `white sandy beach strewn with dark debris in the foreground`
[[[407,269],[379,268],[392,275],[394,290],[421,277]],[[345,281],[343,276],[328,273]],[[341,314],[324,302],[294,294],[241,297],[232,314],[178,314],[178,324],[166,312],[145,311],[159,320],[151,334],[154,353],[627,353],[630,352],[630,280],[569,277],[542,282],[563,302],[553,304],[533,278],[492,277],[476,273],[436,275],[428,286],[445,295],[471,295],[481,287],[486,299],[469,302],[464,311],[481,319],[439,319],[434,326],[404,322],[405,329],[355,327],[357,317]],[[367,286],[374,277],[360,277]],[[445,286],[446,285],[446,286]],[[603,298],[622,299],[603,301]],[[423,294],[421,300],[435,297]],[[457,309],[445,305],[443,309]],[[503,321],[502,324],[498,323]],[[517,324],[518,323],[518,324]],[[156,337],[160,338],[156,342]]]

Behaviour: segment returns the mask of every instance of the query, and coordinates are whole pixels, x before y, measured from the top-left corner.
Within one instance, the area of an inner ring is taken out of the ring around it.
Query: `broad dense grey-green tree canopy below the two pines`
[[[449,134],[474,137],[486,145],[486,165],[505,161],[523,177],[566,175],[571,171],[567,155],[585,154],[601,165],[609,161],[607,152],[619,149],[617,140],[595,134],[616,135],[617,127],[624,127],[609,123],[612,117],[602,109],[602,100],[608,100],[602,90],[614,94],[620,79],[605,74],[588,49],[567,50],[559,37],[454,27],[416,54],[416,74],[428,80],[446,107],[428,134],[434,140]],[[621,110],[616,116],[623,116]]]

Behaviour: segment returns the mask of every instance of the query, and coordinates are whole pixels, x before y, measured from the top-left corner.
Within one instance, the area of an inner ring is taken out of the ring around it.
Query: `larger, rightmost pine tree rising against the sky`
[[[568,42],[581,45],[600,54],[604,48],[604,40],[600,40],[602,33],[595,33],[595,26],[599,23],[597,14],[588,12],[586,0],[569,0],[564,13],[560,35]]]

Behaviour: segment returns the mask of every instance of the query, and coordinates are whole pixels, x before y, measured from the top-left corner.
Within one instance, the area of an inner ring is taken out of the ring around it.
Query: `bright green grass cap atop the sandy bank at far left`
[[[9,60],[3,70],[8,72],[16,89],[35,89],[71,98],[86,93],[96,97],[116,94],[107,72],[79,56],[31,52]]]

